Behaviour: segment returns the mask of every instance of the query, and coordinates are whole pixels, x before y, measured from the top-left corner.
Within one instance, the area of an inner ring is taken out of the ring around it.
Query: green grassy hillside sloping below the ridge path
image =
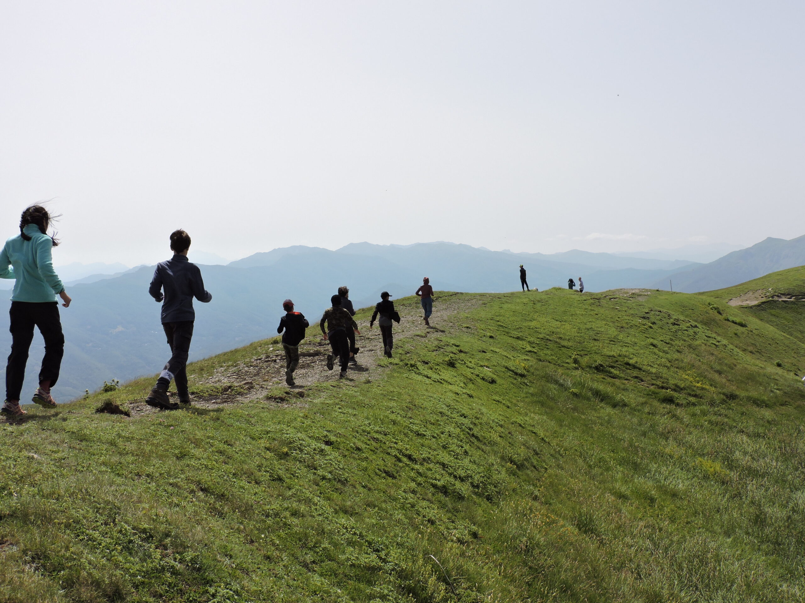
[[[469,310],[303,397],[31,411],[0,601],[802,601],[805,349],[727,295],[444,295]]]

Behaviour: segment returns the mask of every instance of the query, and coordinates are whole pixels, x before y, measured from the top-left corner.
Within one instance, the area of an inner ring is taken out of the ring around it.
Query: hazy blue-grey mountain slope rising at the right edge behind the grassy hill
[[[769,237],[758,244],[728,253],[709,264],[682,270],[673,276],[675,291],[695,293],[724,289],[764,274],[805,265],[805,236],[796,239]],[[654,282],[655,289],[669,289],[667,278]]]

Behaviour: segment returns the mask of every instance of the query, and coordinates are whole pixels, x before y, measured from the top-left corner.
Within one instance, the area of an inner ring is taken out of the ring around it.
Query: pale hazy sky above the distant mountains
[[[0,236],[56,263],[805,234],[803,2],[0,2]]]

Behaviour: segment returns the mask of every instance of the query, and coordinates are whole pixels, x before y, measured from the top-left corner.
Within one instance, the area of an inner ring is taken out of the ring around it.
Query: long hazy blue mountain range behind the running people
[[[491,252],[451,243],[357,243],[336,251],[302,245],[274,249],[226,266],[200,265],[213,301],[196,303],[191,358],[204,358],[275,334],[287,297],[311,320],[308,336],[316,337],[316,323],[339,285],[349,286],[357,307],[374,304],[384,289],[395,298],[411,295],[425,276],[431,277],[436,289],[511,291],[520,286],[520,264],[526,266],[532,288],[564,287],[569,277],[581,276],[590,291],[646,286],[689,267],[606,253],[576,251],[548,256]],[[130,379],[163,366],[170,353],[159,324],[159,304],[147,293],[153,270],[153,266],[139,267],[101,280],[90,275],[85,278],[94,282],[69,285],[74,301],[61,312],[67,344],[62,378],[56,386],[58,396],[79,396],[85,388],[100,386],[104,379]],[[0,311],[5,307],[0,304]],[[10,335],[0,329],[0,351],[9,346]],[[35,385],[41,347],[37,334],[27,388]]]

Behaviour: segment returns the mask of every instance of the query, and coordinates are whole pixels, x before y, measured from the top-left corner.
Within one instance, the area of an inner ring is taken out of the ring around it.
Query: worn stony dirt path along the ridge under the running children
[[[456,293],[437,295],[433,304],[431,326],[425,326],[423,312],[419,304],[404,303],[397,307],[402,320],[394,325],[394,343],[406,338],[415,337],[426,331],[451,332],[458,328],[455,324],[456,314],[473,310],[481,305],[481,301]],[[308,336],[299,345],[299,367],[294,373],[295,386],[285,387],[285,354],[281,344],[270,348],[268,354],[238,363],[233,367],[217,368],[213,376],[207,379],[190,378],[190,389],[193,392],[212,389],[209,395],[192,395],[192,404],[197,408],[217,408],[224,404],[237,404],[270,396],[278,405],[298,405],[299,398],[304,396],[305,388],[319,382],[337,381],[339,367],[327,370],[327,355],[330,345],[321,338],[318,320],[311,319]],[[383,358],[382,337],[375,324],[369,329],[369,320],[359,320],[361,335],[357,336],[356,345],[360,348],[357,354],[357,366],[350,364],[348,379],[377,378],[382,371],[378,360]],[[278,388],[278,386],[283,386]],[[171,399],[175,394],[171,392]],[[128,404],[132,416],[158,412],[141,401]]]

